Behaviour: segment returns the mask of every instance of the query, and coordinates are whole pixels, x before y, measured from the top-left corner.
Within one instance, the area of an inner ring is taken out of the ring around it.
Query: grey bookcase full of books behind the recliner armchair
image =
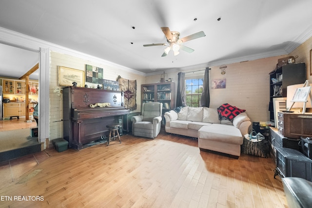
[[[176,107],[175,82],[161,82],[155,84],[141,85],[141,101],[160,102],[163,110],[170,110]]]

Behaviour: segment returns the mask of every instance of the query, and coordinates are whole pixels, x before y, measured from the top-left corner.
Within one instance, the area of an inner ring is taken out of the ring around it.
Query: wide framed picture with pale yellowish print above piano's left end
[[[59,86],[73,86],[77,82],[77,87],[84,87],[84,71],[59,66]]]

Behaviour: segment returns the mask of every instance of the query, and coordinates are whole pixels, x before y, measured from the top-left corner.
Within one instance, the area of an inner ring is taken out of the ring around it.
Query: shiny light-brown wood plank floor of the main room
[[[2,164],[0,207],[288,208],[271,158],[199,151],[196,140],[164,131],[155,139],[124,135],[121,141],[48,149],[51,157],[14,181]]]

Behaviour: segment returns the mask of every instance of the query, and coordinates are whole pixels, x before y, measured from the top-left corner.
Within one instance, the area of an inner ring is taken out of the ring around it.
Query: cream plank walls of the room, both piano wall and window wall
[[[210,89],[210,107],[217,108],[223,103],[229,103],[240,109],[245,109],[252,121],[269,120],[269,99],[270,80],[269,73],[275,69],[277,59],[286,56],[299,56],[296,62],[305,62],[307,66],[307,78],[312,82],[310,76],[310,50],[312,49],[312,38],[296,48],[290,55],[279,57],[261,58],[241,63],[227,64],[226,74],[221,75],[219,66],[209,66],[210,84],[213,79],[226,78],[225,89]],[[137,110],[141,109],[141,84],[156,83],[160,80],[160,74],[142,76],[129,73],[127,70],[96,63],[70,55],[57,52],[50,54],[50,140],[63,136],[62,123],[62,94],[61,87],[58,86],[58,66],[69,67],[78,70],[85,70],[85,64],[98,66],[104,69],[105,79],[116,80],[120,75],[123,78],[137,80]],[[204,68],[194,68],[184,72],[203,70]],[[166,72],[167,78],[173,78],[177,82],[179,71]],[[187,73],[186,76],[202,74],[201,72]],[[88,86],[91,84],[87,83]],[[176,83],[177,84],[177,83]]]

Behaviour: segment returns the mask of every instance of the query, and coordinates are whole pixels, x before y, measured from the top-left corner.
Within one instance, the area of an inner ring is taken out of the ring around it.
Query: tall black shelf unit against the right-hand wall
[[[273,98],[287,97],[287,86],[301,84],[306,81],[306,64],[294,63],[283,65],[270,75],[270,120],[274,122]]]

